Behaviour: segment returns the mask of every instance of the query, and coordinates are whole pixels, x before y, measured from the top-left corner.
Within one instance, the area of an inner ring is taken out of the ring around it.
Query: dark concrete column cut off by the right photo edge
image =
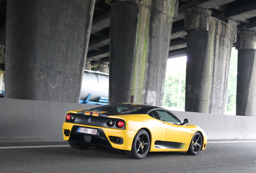
[[[256,31],[237,34],[236,115],[256,116]]]

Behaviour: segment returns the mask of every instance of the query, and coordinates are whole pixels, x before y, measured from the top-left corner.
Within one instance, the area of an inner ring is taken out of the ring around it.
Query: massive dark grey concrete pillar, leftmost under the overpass
[[[5,97],[78,103],[95,0],[8,0]]]

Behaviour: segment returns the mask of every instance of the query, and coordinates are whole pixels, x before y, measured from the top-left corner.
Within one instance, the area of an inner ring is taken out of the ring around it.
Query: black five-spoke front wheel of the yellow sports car
[[[190,142],[188,151],[186,152],[188,155],[197,155],[202,148],[202,135],[199,132],[196,132]]]

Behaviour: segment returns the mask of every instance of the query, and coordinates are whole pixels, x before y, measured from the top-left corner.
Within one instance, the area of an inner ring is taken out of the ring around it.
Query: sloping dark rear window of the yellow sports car
[[[113,105],[105,105],[101,107],[96,107],[93,109],[89,109],[88,111],[99,111],[99,112],[105,112],[101,113],[104,115],[118,115],[118,114],[124,114],[129,113],[132,111],[137,111],[139,109],[142,109],[141,106],[138,105],[126,105],[126,104],[113,104]]]

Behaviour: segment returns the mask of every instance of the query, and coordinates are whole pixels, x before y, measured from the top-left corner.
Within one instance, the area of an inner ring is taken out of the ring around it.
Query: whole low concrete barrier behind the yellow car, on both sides
[[[61,141],[66,113],[96,105],[0,99],[0,142]],[[256,138],[256,117],[172,111],[200,126],[209,139]]]

